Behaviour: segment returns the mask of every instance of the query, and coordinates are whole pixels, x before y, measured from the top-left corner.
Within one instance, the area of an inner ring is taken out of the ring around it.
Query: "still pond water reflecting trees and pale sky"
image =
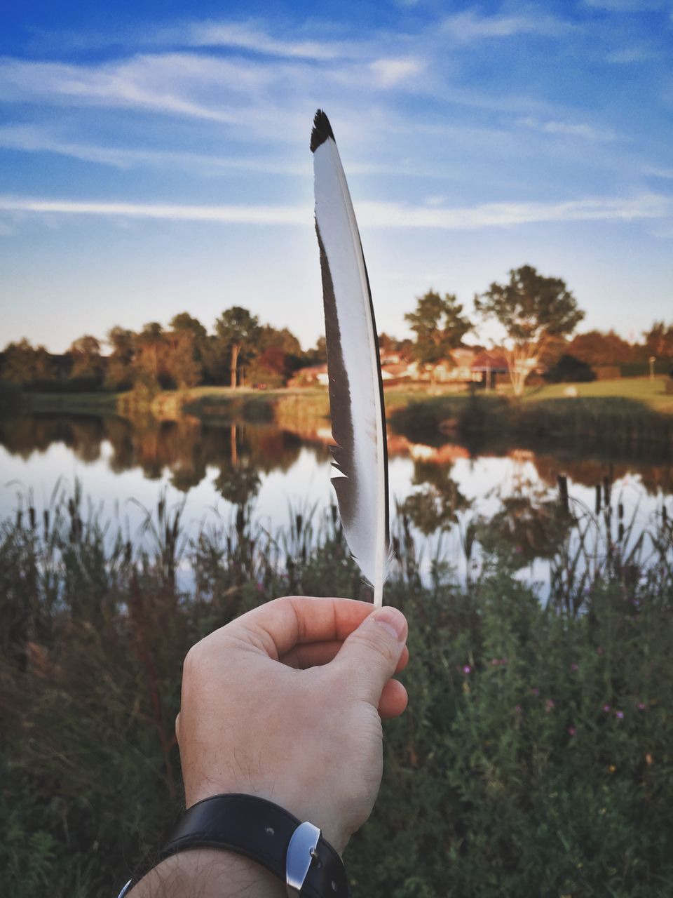
[[[169,506],[185,503],[182,520],[192,536],[209,521],[231,520],[240,506],[277,533],[298,512],[319,520],[334,503],[329,442],[327,422],[288,430],[189,417],[8,418],[0,421],[0,517],[30,498],[39,513],[55,488],[72,491],[79,481],[102,518],[133,541],[142,539],[144,509],[156,507],[162,494]],[[572,525],[558,519],[559,475],[567,478]],[[394,532],[406,521],[422,567],[441,558],[461,578],[478,565],[479,540],[466,550],[475,524],[484,545],[492,537],[509,541],[520,577],[544,587],[549,559],[564,540],[572,550],[583,526],[595,530],[592,551],[607,552],[621,540],[626,552],[656,531],[662,515],[673,516],[669,462],[613,464],[516,447],[471,456],[461,445],[429,446],[389,433],[389,481]]]

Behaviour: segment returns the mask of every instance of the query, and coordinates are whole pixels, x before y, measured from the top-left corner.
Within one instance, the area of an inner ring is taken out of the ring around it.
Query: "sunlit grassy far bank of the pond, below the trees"
[[[530,388],[520,399],[506,390],[456,392],[427,386],[385,391],[393,433],[427,445],[459,443],[470,453],[574,448],[616,459],[673,453],[673,394],[666,377],[616,379]],[[328,434],[325,388],[256,391],[200,387],[162,391],[151,401],[125,393],[22,393],[13,413],[149,416],[157,421],[185,416],[208,423],[235,420],[275,423],[300,436]],[[8,412],[5,409],[4,414]]]

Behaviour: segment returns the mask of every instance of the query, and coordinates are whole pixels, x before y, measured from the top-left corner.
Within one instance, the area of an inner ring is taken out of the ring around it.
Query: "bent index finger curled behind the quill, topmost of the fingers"
[[[243,614],[223,629],[248,633],[275,661],[309,642],[343,642],[374,610],[357,599],[286,595]],[[260,640],[260,643],[258,643]]]

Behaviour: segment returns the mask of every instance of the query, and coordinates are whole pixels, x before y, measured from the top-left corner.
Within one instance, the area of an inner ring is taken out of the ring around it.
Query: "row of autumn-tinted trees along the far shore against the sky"
[[[429,290],[417,297],[405,319],[413,339],[380,334],[382,357],[397,353],[430,371],[451,364],[451,351],[478,336],[478,324],[496,321],[503,332],[498,351],[505,357],[516,394],[533,371],[551,379],[587,380],[600,365],[642,365],[656,358],[673,360],[673,324],[655,322],[642,342],[630,343],[614,330],[575,330],[584,318],[560,277],[546,277],[529,265],[510,271],[509,281],[493,283],[474,299],[474,317],[452,294]],[[291,330],[261,324],[239,305],[223,311],[212,332],[187,312],[164,328],[150,321],[142,330],[114,327],[104,341],[90,334],[75,339],[63,356],[33,347],[28,339],[12,342],[0,354],[0,381],[33,390],[133,389],[153,394],[188,390],[198,384],[280,386],[302,367],[326,360],[325,339],[302,350]],[[485,348],[471,343],[472,348]]]

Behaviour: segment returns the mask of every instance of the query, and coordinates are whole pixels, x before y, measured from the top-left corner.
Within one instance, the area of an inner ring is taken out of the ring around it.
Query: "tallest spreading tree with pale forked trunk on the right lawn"
[[[560,277],[544,277],[530,265],[510,271],[509,284],[492,284],[475,296],[476,312],[502,324],[503,352],[514,395],[523,392],[549,341],[569,337],[584,313]]]

